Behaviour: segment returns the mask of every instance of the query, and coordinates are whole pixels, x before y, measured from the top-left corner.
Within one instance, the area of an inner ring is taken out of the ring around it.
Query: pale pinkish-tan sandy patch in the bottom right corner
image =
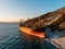
[[[50,39],[52,42],[54,42],[56,46],[60,46],[61,49],[65,49],[65,37],[56,38],[56,39]]]

